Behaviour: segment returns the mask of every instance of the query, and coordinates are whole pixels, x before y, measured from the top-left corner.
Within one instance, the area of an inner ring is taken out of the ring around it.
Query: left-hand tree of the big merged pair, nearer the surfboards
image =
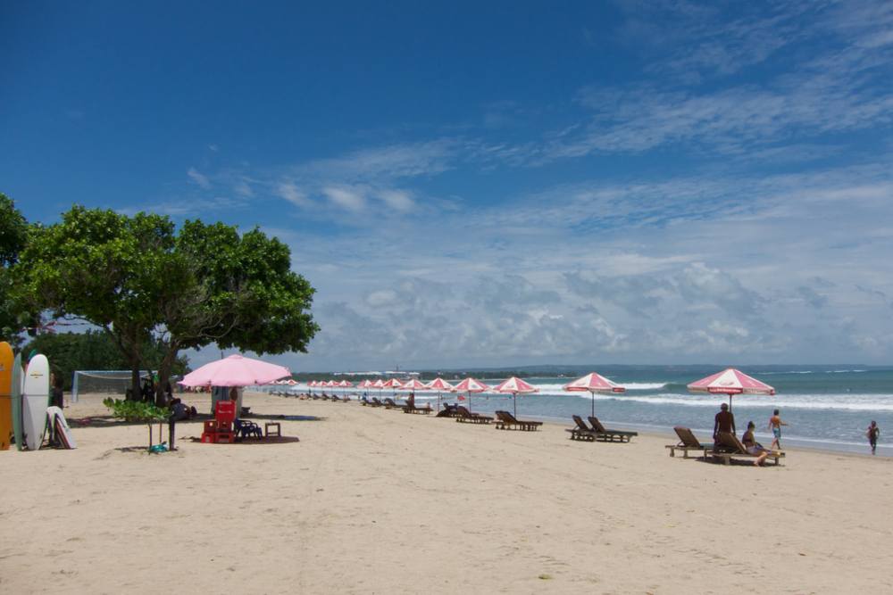
[[[21,253],[21,294],[54,318],[83,318],[115,343],[139,394],[142,348],[159,324],[158,301],[171,269],[171,219],[74,206],[38,227]]]

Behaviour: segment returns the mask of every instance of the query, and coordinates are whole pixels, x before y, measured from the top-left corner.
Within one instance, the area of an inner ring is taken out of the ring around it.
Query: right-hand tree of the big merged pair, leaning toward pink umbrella
[[[182,285],[170,284],[162,303],[168,349],[159,384],[183,349],[306,351],[319,330],[308,311],[314,290],[291,270],[287,245],[256,228],[240,236],[236,227],[196,220],[180,229],[174,252]]]

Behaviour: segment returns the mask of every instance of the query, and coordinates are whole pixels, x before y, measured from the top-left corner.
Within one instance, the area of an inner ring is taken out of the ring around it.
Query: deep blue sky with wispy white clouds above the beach
[[[882,0],[7,2],[0,192],[278,236],[294,371],[885,365],[891,80]]]

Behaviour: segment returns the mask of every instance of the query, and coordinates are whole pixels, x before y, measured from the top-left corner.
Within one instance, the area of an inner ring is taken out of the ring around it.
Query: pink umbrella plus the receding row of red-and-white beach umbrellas
[[[281,380],[288,376],[288,379]],[[291,378],[291,372],[288,368],[270,364],[260,359],[245,358],[241,355],[230,355],[228,358],[218,359],[209,364],[205,364],[201,368],[196,369],[184,376],[179,384],[186,386],[251,386],[255,384],[298,384],[296,380]],[[351,388],[354,386],[349,380],[329,380],[329,381],[311,381],[311,387],[330,387],[330,388]],[[512,394],[514,413],[517,415],[517,397],[519,394],[538,393],[536,386],[522,380],[521,378],[511,377],[497,386],[491,388],[487,384],[483,384],[479,380],[468,377],[458,384],[450,384],[443,378],[435,378],[429,383],[422,383],[420,380],[413,378],[404,382],[396,378],[388,380],[363,380],[356,385],[361,389],[385,389],[391,388],[395,390],[409,391],[437,391],[438,392],[438,409],[440,405],[441,393],[467,393],[468,409],[472,409],[472,393],[503,393]],[[712,376],[707,376],[688,385],[689,391],[692,393],[714,393],[729,395],[729,406],[731,407],[731,398],[736,394],[775,394],[775,389],[769,384],[765,384],[751,376],[747,376],[740,370],[735,368],[727,368]],[[565,384],[563,389],[568,392],[588,392],[592,396],[592,415],[596,411],[596,393],[625,393],[626,388],[621,384],[617,384],[601,376],[596,372],[582,376],[572,383]]]

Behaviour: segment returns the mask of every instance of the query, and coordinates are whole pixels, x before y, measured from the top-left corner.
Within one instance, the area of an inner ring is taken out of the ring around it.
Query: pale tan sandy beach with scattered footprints
[[[198,422],[150,455],[146,426],[97,421],[77,450],[0,452],[0,591],[893,591],[889,459],[725,467],[671,459],[669,436],[573,442],[570,423],[245,404],[314,418],[281,422],[300,442],[190,442]]]

